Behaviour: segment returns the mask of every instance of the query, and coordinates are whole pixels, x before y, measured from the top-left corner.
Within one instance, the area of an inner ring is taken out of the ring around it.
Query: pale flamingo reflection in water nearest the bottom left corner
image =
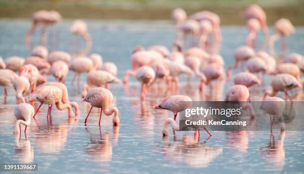
[[[20,139],[19,135],[15,135],[15,139],[15,156],[18,159],[18,163],[32,163],[34,160],[34,148],[31,146],[31,141],[27,138]]]

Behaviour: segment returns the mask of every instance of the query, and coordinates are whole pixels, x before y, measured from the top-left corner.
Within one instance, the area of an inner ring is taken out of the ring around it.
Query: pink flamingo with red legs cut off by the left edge
[[[6,103],[7,91],[6,87],[11,86],[13,81],[18,77],[18,75],[9,69],[0,69],[0,86],[4,87],[4,104]]]

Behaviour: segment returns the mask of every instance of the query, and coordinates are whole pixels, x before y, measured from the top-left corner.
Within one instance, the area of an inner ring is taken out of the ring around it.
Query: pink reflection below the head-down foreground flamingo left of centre
[[[113,133],[101,133],[99,127],[99,135],[94,135],[85,128],[90,137],[90,142],[85,144],[85,152],[89,159],[95,162],[110,162],[112,160],[112,144],[118,142],[119,127],[113,127]]]

